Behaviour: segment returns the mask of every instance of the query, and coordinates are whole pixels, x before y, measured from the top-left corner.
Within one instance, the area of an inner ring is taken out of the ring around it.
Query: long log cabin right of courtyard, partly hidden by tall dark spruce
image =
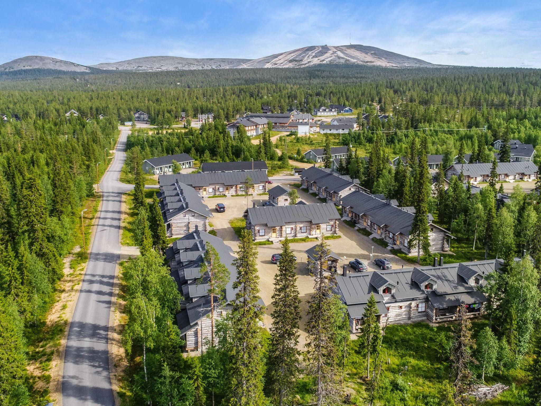
[[[358,228],[371,231],[376,238],[386,241],[395,250],[417,255],[417,247],[411,247],[410,231],[414,217],[412,207],[397,207],[390,200],[381,200],[364,192],[353,192],[341,201],[342,216],[357,224]],[[433,223],[428,215],[428,239],[430,252],[449,251],[452,235]]]

